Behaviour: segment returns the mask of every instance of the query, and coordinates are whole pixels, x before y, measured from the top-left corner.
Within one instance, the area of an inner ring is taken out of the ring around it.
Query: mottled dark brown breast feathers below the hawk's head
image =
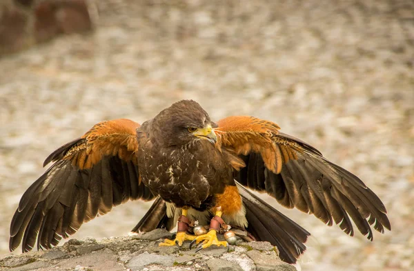
[[[224,190],[224,179],[232,179],[230,170],[226,177],[217,175],[222,172],[218,167],[226,163],[219,161],[224,157],[214,145],[210,145],[208,152],[191,148],[152,148],[141,153],[144,155],[138,161],[142,181],[167,201],[176,199],[183,205],[197,208],[212,194]],[[213,163],[210,155],[217,157]]]

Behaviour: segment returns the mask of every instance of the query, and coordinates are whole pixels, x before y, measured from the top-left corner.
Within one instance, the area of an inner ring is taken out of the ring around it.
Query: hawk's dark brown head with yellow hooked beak
[[[188,145],[198,140],[214,144],[217,141],[215,127],[217,125],[210,121],[207,112],[197,102],[183,100],[173,103],[153,119],[151,141],[164,147]]]

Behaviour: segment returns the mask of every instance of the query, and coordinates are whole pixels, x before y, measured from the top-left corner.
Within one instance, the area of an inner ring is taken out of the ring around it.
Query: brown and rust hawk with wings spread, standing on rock
[[[391,230],[382,201],[358,177],[325,159],[304,141],[255,117],[210,120],[184,100],[141,126],[128,119],[97,123],[52,152],[52,166],[21,197],[10,225],[10,250],[49,249],[82,223],[128,200],[155,199],[133,232],[172,230],[160,245],[228,245],[217,232],[244,230],[276,245],[295,263],[310,235],[250,190],[266,192],[286,208],[314,214],[326,225],[373,239],[371,226]],[[208,226],[191,234],[194,222]]]

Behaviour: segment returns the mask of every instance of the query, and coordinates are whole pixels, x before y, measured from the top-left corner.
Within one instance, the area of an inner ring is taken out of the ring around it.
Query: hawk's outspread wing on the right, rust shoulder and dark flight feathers
[[[248,188],[267,192],[328,225],[335,221],[353,236],[358,230],[372,240],[371,226],[391,230],[382,201],[358,177],[326,160],[304,141],[279,132],[279,126],[254,117],[228,117],[218,123],[221,148],[246,164],[235,179]]]

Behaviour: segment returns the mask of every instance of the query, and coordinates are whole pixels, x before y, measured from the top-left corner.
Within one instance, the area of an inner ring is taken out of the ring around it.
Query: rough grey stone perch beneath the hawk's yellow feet
[[[228,248],[207,248],[195,253],[185,243],[159,247],[164,238],[172,237],[164,229],[132,237],[112,237],[96,241],[72,239],[52,250],[8,254],[0,258],[0,270],[276,270],[296,271],[279,259],[279,251],[268,242],[249,242]]]

